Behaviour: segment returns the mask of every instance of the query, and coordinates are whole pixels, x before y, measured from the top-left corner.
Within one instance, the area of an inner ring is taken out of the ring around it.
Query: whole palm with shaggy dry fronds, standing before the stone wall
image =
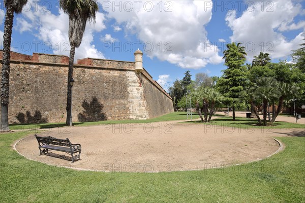
[[[69,15],[69,41],[70,41],[70,58],[68,71],[68,91],[67,91],[67,119],[66,124],[70,122],[71,108],[71,85],[70,80],[73,78],[73,64],[75,48],[81,44],[83,33],[87,21],[96,20],[96,12],[99,10],[95,0],[59,0],[59,6]]]

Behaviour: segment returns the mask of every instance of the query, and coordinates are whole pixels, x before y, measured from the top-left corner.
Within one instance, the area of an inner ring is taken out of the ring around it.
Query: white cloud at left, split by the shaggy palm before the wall
[[[38,5],[37,2],[29,1],[28,4],[35,4],[35,6],[29,7],[31,9],[23,9],[23,18],[17,18],[16,29],[19,32],[32,32],[35,37],[52,47],[54,54],[69,56],[68,15],[62,10],[58,11],[58,15],[52,14],[50,11]],[[82,43],[75,50],[75,60],[85,57],[105,58],[103,53],[93,44],[94,33],[106,28],[104,24],[105,16],[103,13],[98,12],[96,17],[95,24],[93,22],[87,22],[86,24]]]

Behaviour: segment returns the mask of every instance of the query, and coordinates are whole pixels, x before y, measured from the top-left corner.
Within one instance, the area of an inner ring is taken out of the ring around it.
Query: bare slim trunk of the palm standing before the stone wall
[[[69,71],[68,71],[68,91],[67,91],[67,119],[66,124],[70,124],[70,118],[71,118],[71,85],[70,80],[73,78],[73,64],[74,64],[74,54],[75,54],[75,46],[71,45],[70,49],[70,58],[69,58]]]

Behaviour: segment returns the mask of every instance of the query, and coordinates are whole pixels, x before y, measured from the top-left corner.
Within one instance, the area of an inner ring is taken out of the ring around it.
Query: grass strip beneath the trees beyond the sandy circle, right
[[[257,127],[262,128],[262,126],[258,126],[258,121],[255,118],[243,118],[243,117],[236,117],[235,121],[232,120],[232,117],[221,117],[211,120],[209,123],[202,123],[200,121],[187,121],[184,123],[198,123],[198,124],[205,124],[205,125],[219,125],[219,126],[228,126],[228,127],[240,127],[240,128],[249,128],[249,127]],[[289,122],[282,122],[276,121],[273,123],[272,126],[266,126],[265,128],[305,128],[305,124],[300,123],[289,123]]]

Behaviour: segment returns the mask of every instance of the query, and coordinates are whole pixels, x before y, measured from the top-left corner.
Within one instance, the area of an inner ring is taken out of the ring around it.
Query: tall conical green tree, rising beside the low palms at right
[[[240,92],[249,84],[248,70],[243,65],[247,54],[245,47],[241,47],[240,43],[236,45],[234,42],[227,44],[227,50],[223,53],[228,69],[223,70],[223,76],[218,80],[218,86],[225,97],[232,98],[233,120],[235,120],[235,107],[240,101]]]

